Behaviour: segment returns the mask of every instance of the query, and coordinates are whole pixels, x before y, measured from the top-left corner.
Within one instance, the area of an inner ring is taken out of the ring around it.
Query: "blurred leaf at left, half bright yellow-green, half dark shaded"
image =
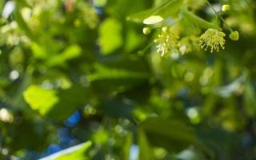
[[[40,86],[29,86],[24,92],[25,101],[43,116],[63,120],[86,102],[87,91],[81,86],[66,90],[46,90]]]

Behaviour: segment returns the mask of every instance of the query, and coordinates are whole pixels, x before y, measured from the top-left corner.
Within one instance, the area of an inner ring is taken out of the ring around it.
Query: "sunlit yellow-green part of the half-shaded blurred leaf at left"
[[[34,85],[29,86],[23,96],[30,107],[42,115],[49,112],[59,101],[56,90],[46,90]]]

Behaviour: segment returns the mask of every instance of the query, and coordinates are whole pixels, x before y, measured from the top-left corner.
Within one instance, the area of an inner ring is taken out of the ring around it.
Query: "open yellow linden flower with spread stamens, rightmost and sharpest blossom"
[[[207,50],[208,47],[210,47],[210,52],[214,52],[214,50],[218,51],[220,47],[224,49],[225,35],[226,34],[221,31],[210,28],[200,36],[199,46],[204,50]]]

